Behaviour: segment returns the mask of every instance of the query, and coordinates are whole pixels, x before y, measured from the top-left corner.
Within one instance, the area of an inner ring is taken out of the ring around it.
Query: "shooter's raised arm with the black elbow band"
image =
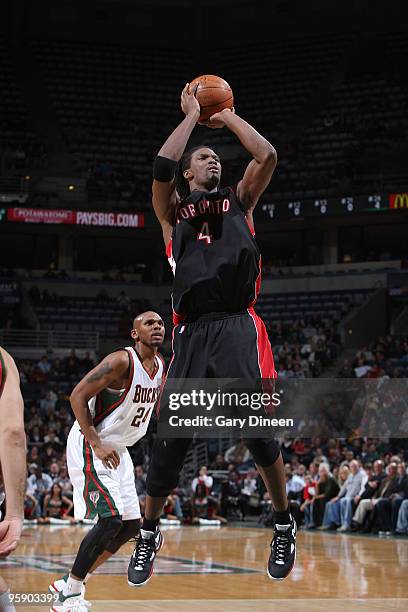
[[[153,167],[153,208],[162,226],[166,246],[174,225],[177,163],[200,116],[200,105],[195,97],[197,87],[191,93],[188,90],[189,83],[184,87],[181,108],[185,117],[160,149]]]

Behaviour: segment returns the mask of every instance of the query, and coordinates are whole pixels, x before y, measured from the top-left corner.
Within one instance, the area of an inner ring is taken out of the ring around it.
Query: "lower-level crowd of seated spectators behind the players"
[[[304,334],[304,328],[295,329],[294,333]],[[292,339],[296,337],[302,338]],[[284,350],[288,346],[282,345]],[[387,376],[389,360],[407,360],[407,355],[406,337],[381,337],[356,354],[351,363],[354,378],[359,378],[362,367],[367,368],[365,378],[373,373],[376,378]],[[285,357],[288,359],[287,354]],[[301,364],[301,352],[297,359]],[[38,360],[18,362],[26,399],[28,519],[73,521],[72,485],[65,454],[74,419],[69,393],[94,364],[93,355],[86,353],[79,358],[75,351],[64,358],[44,354]],[[395,368],[390,373],[393,375]],[[283,436],[281,451],[291,510],[299,525],[340,532],[408,534],[406,439],[393,438],[385,430],[367,437],[358,429],[343,439]],[[132,456],[143,512],[148,451],[146,447],[132,449]],[[272,502],[245,443],[237,441],[212,459],[210,454],[208,466],[201,466],[191,483],[168,496],[163,518],[192,524],[230,520],[272,524]]]

